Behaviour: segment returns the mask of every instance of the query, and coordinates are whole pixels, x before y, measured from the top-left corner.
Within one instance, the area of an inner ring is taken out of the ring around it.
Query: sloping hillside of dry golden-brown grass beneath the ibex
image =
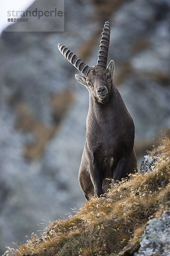
[[[170,207],[170,140],[153,148],[154,171],[122,180],[107,195],[93,198],[67,220],[51,222],[41,235],[8,248],[12,256],[130,256],[139,248],[146,222]]]

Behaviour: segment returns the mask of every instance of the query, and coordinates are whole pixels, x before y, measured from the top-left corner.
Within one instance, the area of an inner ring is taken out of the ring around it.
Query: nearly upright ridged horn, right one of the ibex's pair
[[[108,51],[109,51],[109,42],[110,42],[110,23],[109,21],[105,22],[102,37],[100,41],[100,49],[97,60],[97,65],[103,66],[106,68],[108,61]]]

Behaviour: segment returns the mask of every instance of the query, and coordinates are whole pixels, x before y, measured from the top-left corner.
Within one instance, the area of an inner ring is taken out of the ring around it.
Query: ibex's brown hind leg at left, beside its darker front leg
[[[88,201],[92,196],[94,196],[94,186],[91,182],[90,174],[83,164],[81,164],[79,169],[79,184],[86,201]]]

